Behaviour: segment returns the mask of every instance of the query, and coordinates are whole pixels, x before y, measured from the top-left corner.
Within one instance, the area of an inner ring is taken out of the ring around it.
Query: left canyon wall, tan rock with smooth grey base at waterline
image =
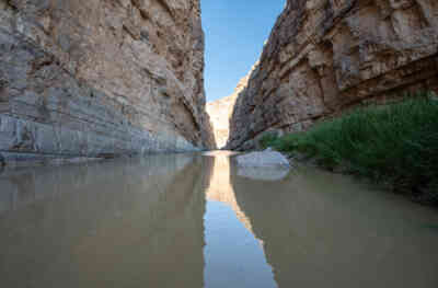
[[[0,0],[0,150],[209,147],[203,73],[198,0]]]

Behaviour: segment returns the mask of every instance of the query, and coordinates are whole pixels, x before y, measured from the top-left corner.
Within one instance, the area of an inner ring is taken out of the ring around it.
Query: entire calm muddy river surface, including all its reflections
[[[228,153],[0,174],[0,279],[50,287],[438,287],[438,214]]]

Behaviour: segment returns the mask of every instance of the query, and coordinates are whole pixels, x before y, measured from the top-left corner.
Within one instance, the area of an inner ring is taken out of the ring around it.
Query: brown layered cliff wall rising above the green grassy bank
[[[435,0],[288,0],[235,103],[228,148],[364,101],[438,91],[437,48]]]

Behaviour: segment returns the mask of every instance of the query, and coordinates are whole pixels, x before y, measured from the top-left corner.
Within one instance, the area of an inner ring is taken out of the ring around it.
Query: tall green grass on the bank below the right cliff
[[[307,133],[267,135],[261,145],[438,204],[438,99],[433,93],[357,108]]]

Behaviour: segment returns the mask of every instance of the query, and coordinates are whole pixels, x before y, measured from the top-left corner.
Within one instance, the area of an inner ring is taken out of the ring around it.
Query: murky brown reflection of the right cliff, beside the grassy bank
[[[434,211],[312,169],[231,180],[280,288],[437,287]]]

